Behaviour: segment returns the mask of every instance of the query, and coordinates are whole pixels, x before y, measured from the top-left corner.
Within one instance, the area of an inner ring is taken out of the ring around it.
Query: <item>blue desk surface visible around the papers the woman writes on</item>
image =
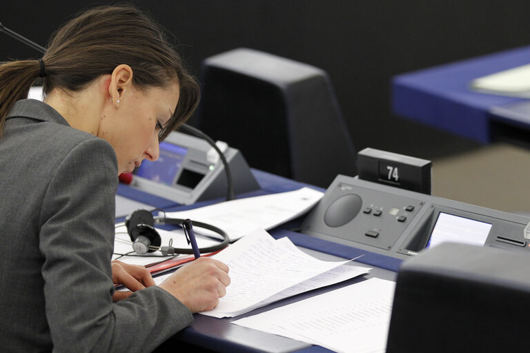
[[[252,170],[252,172],[259,185],[262,187],[262,190],[249,192],[239,196],[257,196],[259,194],[285,192],[296,190],[302,186],[310,186],[311,188],[315,188],[311,185],[298,183],[283,177],[277,177],[273,174],[261,172],[259,170]],[[320,188],[315,189],[323,191]],[[181,206],[165,199],[153,199],[151,195],[128,188],[125,185],[120,185],[118,194],[119,196],[124,196],[128,199],[150,205],[158,206],[159,204],[164,204],[164,208],[170,211],[185,210],[215,202],[215,200],[204,201],[202,203],[196,203],[195,205]],[[119,214],[122,212],[117,213]],[[302,247],[304,251],[324,260],[333,260],[337,259],[337,257],[343,259],[352,259],[355,256],[359,256],[360,254],[365,254],[361,259],[359,259],[359,261],[357,261],[358,265],[366,265],[367,267],[373,268],[373,270],[371,270],[370,274],[363,276],[360,279],[352,279],[350,281],[338,283],[337,285],[333,285],[328,288],[321,288],[320,290],[315,290],[310,293],[300,294],[299,296],[284,299],[283,301],[272,303],[271,305],[259,308],[248,314],[238,316],[237,318],[215,319],[213,317],[195,314],[195,322],[190,327],[186,327],[186,329],[176,334],[172,340],[184,341],[186,343],[199,345],[200,347],[217,352],[329,352],[323,347],[311,346],[300,341],[293,341],[284,337],[266,334],[265,332],[251,330],[246,327],[232,325],[230,322],[243,316],[257,314],[258,312],[262,312],[264,310],[270,310],[274,307],[293,303],[294,301],[299,301],[300,299],[307,298],[308,296],[321,294],[337,287],[349,285],[357,281],[363,281],[364,279],[373,276],[382,279],[393,280],[395,279],[395,271],[399,267],[401,261],[380,254],[366,252],[366,250],[359,250],[346,245],[340,245],[324,241],[322,239],[305,236],[304,234],[289,230],[290,227],[296,227],[296,225],[297,221],[286,223],[281,228],[272,230],[271,234],[276,239],[281,238],[282,236],[288,236],[293,243]]]

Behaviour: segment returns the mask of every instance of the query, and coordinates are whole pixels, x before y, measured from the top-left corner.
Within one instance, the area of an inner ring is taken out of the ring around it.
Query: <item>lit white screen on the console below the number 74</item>
[[[490,223],[440,212],[426,248],[447,241],[482,246],[490,229]]]

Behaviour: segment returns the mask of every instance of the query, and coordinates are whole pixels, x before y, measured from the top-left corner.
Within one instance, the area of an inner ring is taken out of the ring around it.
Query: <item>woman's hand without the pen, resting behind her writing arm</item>
[[[121,261],[112,261],[112,282],[122,284],[128,291],[116,291],[112,295],[112,301],[121,301],[128,298],[133,292],[151,285],[155,285],[153,277],[144,266],[130,265]]]

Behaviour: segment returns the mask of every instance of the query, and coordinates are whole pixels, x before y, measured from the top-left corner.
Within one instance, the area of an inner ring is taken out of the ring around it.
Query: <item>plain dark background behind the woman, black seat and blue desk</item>
[[[315,65],[331,77],[357,150],[425,159],[478,144],[395,117],[391,77],[530,44],[524,0],[131,2],[175,34],[195,74],[206,57],[239,47]],[[44,46],[66,19],[103,3],[116,2],[3,1],[0,21]],[[28,57],[39,53],[0,34],[0,60]]]

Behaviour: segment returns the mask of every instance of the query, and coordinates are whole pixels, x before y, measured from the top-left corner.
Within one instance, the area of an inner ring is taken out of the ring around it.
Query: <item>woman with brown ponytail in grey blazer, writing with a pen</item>
[[[24,99],[39,77],[44,102]],[[224,296],[228,267],[213,259],[159,287],[110,261],[118,174],[156,160],[198,99],[159,27],[128,6],[88,10],[42,59],[0,65],[3,350],[148,352]]]

